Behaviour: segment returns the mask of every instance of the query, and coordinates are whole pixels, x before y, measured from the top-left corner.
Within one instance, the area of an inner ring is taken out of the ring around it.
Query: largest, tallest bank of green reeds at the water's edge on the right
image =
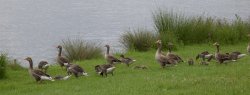
[[[243,21],[236,15],[236,19],[228,21],[205,16],[184,16],[169,11],[154,14],[156,31],[162,42],[182,42],[197,44],[218,41],[234,44],[247,41],[250,32],[250,22]],[[164,44],[164,43],[163,43]]]

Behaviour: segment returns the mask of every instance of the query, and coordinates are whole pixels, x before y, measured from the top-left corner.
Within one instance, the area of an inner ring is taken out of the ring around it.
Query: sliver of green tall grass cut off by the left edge
[[[0,79],[6,77],[6,64],[8,62],[7,54],[0,54]]]

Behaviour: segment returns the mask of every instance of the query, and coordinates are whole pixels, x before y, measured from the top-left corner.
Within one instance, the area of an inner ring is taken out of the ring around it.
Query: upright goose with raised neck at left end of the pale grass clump
[[[62,57],[62,46],[58,45],[58,56],[57,56],[57,63],[63,68],[64,63],[69,63],[69,60]]]

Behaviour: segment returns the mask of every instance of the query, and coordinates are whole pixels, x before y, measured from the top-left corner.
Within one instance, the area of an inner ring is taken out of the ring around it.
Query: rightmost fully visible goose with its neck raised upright
[[[227,54],[222,54],[220,53],[220,49],[219,49],[219,43],[215,42],[213,44],[214,46],[216,46],[217,51],[215,52],[215,59],[221,64],[226,60],[231,60],[231,58],[229,57],[229,55]]]

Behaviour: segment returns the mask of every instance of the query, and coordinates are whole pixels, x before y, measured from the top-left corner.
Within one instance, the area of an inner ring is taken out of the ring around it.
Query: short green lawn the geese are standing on
[[[246,53],[247,44],[221,45],[222,52],[238,50]],[[208,50],[212,45],[184,46],[178,51],[186,61],[197,53]],[[127,67],[117,64],[114,76],[103,78],[96,75],[94,66],[105,63],[103,58],[76,62],[90,76],[66,81],[44,81],[41,84],[32,79],[27,70],[8,70],[8,78],[0,80],[1,95],[249,95],[249,56],[227,65],[212,61],[208,66],[197,64],[160,68],[155,61],[156,50],[148,52],[128,52],[126,56],[137,61]],[[117,55],[118,56],[118,55]],[[135,65],[147,65],[147,70],[132,69]],[[51,75],[63,75],[65,71],[55,65],[49,68]]]

